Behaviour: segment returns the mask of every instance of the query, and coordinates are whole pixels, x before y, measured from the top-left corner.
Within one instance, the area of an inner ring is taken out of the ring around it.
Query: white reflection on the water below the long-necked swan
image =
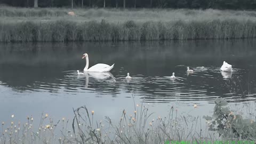
[[[85,88],[88,88],[88,84],[89,84],[89,77],[92,77],[94,79],[97,80],[103,80],[103,79],[113,79],[114,76],[110,73],[110,72],[87,72],[84,71],[84,76],[85,76]]]

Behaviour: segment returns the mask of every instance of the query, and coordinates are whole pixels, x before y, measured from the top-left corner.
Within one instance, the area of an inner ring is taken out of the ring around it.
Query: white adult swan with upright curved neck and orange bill
[[[88,54],[84,53],[83,54],[83,58],[82,59],[86,59],[86,65],[84,68],[84,71],[92,71],[92,72],[108,72],[111,69],[113,69],[115,63],[112,66],[106,65],[104,63],[98,63],[92,67],[89,68],[89,58],[88,58]]]

